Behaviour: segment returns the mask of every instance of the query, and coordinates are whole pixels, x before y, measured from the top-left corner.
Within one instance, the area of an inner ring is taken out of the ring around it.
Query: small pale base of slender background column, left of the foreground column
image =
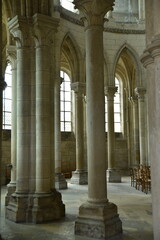
[[[71,183],[78,185],[88,184],[88,172],[84,170],[76,170],[72,172]]]

